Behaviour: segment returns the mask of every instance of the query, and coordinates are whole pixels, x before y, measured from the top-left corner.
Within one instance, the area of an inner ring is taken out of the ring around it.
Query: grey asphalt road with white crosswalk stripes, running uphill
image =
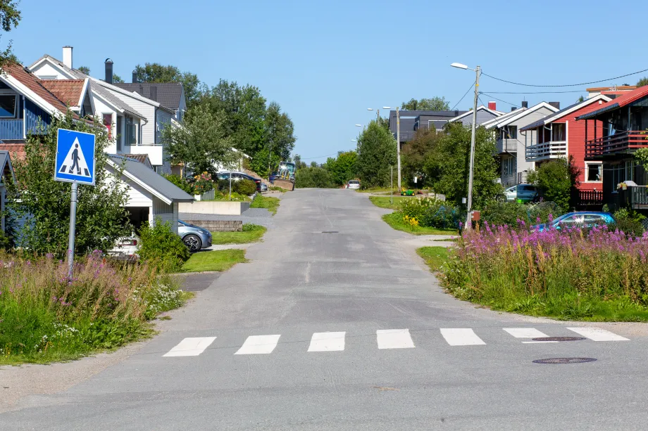
[[[354,191],[287,193],[274,228],[248,248],[250,263],[120,363],[23,399],[0,415],[0,429],[647,426],[642,326],[530,319],[454,300],[380,214]],[[585,340],[529,342],[538,335]],[[554,357],[597,361],[532,362]]]

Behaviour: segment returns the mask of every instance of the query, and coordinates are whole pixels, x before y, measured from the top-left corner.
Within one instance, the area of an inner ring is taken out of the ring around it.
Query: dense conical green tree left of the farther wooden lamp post
[[[358,136],[356,172],[363,187],[390,184],[390,166],[396,165],[396,140],[375,121]]]

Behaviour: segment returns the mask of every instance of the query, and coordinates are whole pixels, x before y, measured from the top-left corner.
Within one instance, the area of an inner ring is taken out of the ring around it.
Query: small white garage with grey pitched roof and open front
[[[120,179],[128,193],[125,207],[130,212],[130,222],[136,229],[144,221],[148,221],[151,226],[156,221],[170,221],[171,228],[177,233],[178,203],[193,202],[193,196],[130,157],[111,155],[106,169],[111,174],[122,169]]]

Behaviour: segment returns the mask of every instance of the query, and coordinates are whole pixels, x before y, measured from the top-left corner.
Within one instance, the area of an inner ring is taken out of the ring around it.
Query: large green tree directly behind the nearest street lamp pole
[[[459,122],[449,123],[437,149],[428,153],[423,171],[428,184],[449,201],[461,204],[468,196],[468,166],[471,148],[471,128]],[[473,206],[481,209],[501,195],[495,181],[499,177],[494,160],[495,142],[492,133],[478,127],[475,133],[475,169],[473,173]]]

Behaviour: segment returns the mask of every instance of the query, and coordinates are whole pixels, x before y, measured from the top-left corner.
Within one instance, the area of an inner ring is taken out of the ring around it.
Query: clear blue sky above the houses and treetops
[[[13,39],[25,65],[44,53],[61,58],[69,44],[74,65],[96,77],[110,57],[127,81],[138,63],[158,62],[208,85],[220,78],[254,84],[292,117],[295,152],[304,160],[354,148],[354,124],[375,116],[368,107],[430,96],[454,105],[474,80],[474,72],[449,67],[454,61],[530,84],[590,82],[648,68],[648,4],[641,0],[23,0],[20,9],[22,22],[0,43]],[[635,84],[640,76],[607,84]],[[481,89],[540,90],[488,77]],[[579,94],[495,96],[564,106]],[[468,95],[457,108],[471,104]],[[510,110],[499,101],[497,107]]]

